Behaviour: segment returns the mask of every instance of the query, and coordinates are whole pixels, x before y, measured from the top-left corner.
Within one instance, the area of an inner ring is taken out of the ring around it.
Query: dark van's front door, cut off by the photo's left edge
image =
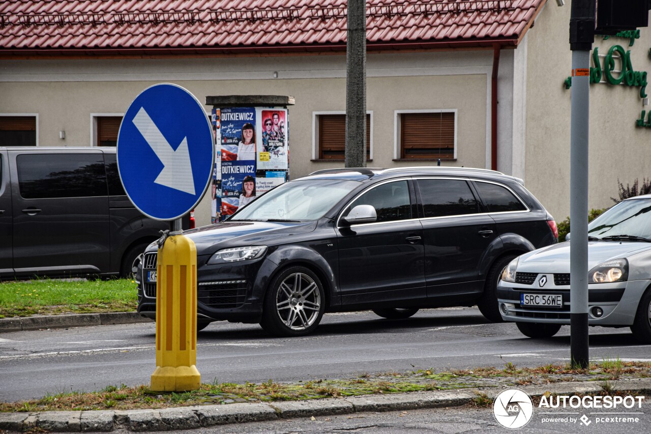
[[[14,276],[13,216],[7,150],[0,149],[0,278]]]

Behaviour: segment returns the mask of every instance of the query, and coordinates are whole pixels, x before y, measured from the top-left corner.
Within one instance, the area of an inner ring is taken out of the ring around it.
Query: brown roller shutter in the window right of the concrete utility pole
[[[454,112],[401,116],[400,158],[454,158]]]

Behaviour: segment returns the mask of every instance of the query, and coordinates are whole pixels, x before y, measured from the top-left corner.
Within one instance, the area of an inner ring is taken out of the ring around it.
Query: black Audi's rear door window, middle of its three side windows
[[[462,179],[419,179],[418,188],[426,218],[479,212],[475,195]]]

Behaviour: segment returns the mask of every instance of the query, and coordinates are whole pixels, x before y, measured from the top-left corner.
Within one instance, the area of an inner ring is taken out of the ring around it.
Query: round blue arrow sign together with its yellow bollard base
[[[214,136],[202,104],[171,83],[141,92],[122,118],[117,162],[133,205],[171,222],[158,240],[156,273],[156,369],[151,390],[201,387],[197,370],[197,248],[182,231],[212,181]],[[144,276],[143,276],[144,278]]]

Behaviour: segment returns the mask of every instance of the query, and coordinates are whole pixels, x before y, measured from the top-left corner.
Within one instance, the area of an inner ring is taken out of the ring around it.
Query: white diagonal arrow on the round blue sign
[[[192,177],[187,137],[183,138],[181,144],[174,151],[143,107],[133,117],[133,124],[163,163],[163,170],[161,170],[154,182],[194,195],[195,181]]]

